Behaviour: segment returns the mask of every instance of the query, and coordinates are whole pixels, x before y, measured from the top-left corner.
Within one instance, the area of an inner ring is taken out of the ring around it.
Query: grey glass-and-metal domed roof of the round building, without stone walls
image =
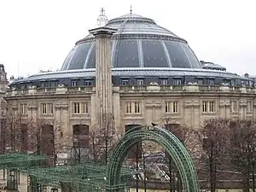
[[[101,17],[102,17],[101,12]],[[103,20],[103,19],[102,19]],[[107,22],[107,19],[104,19]],[[230,84],[252,86],[254,79],[227,72],[225,67],[198,61],[188,42],[179,38],[154,20],[128,14],[106,25],[117,29],[111,39],[112,75],[114,85],[136,85],[156,82],[164,85],[196,83],[204,85]],[[78,86],[96,84],[96,39],[89,34],[80,39],[67,55],[61,70],[33,74],[25,79],[14,79],[11,89],[55,87],[58,84]],[[44,82],[43,82],[44,81]],[[123,82],[124,81],[124,82]]]

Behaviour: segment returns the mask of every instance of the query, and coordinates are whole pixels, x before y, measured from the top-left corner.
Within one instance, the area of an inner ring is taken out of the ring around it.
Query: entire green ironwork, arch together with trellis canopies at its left
[[[137,170],[122,167],[126,154],[131,147],[145,140],[158,143],[171,156],[187,192],[199,192],[199,183],[195,166],[186,148],[170,131],[159,126],[137,126],[125,133],[125,136],[113,148],[108,166],[93,163],[42,167],[39,162],[47,160],[40,154],[0,154],[0,167],[8,169],[8,188],[18,189],[17,172],[28,175],[27,191],[44,192],[52,187],[53,192],[62,191],[108,191],[118,192],[128,189],[131,176]]]

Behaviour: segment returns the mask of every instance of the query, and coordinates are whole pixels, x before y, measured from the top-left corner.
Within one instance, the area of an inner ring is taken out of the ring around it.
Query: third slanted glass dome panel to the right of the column
[[[172,67],[191,68],[188,57],[178,42],[165,41],[165,44],[172,61]]]

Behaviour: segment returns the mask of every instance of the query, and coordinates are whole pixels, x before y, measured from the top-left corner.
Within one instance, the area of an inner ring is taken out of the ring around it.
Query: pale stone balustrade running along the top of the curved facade
[[[233,92],[233,93],[247,93],[255,94],[254,87],[239,87],[228,85],[124,85],[114,87],[115,91],[119,92]],[[28,90],[8,90],[7,96],[23,96],[23,95],[45,95],[45,94],[79,94],[90,93],[95,91],[93,86],[84,87],[33,87]]]

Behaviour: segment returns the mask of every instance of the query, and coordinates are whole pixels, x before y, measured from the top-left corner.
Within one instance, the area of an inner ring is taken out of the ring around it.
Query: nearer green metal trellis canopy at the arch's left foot
[[[36,178],[30,182],[30,186],[41,183],[55,189],[60,189],[61,185],[67,185],[72,191],[102,191],[102,189],[124,189],[127,188],[126,178],[131,178],[137,172],[133,169],[122,168],[120,170],[121,181],[115,186],[109,186],[106,181],[108,166],[86,163],[73,166],[37,167],[20,170],[29,177]],[[34,188],[34,187],[33,187]],[[63,188],[63,187],[62,187]],[[32,189],[30,187],[30,189]],[[32,190],[32,192],[36,192]]]

